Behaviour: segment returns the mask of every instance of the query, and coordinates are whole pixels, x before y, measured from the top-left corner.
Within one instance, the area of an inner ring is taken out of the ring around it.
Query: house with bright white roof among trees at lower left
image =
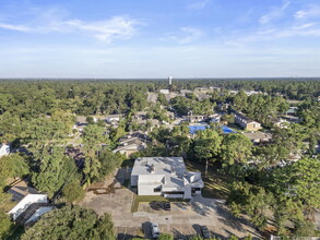
[[[34,224],[42,215],[55,208],[49,203],[47,194],[40,194],[29,188],[25,181],[20,181],[8,193],[12,194],[12,202],[15,206],[9,211],[12,220],[23,226]]]

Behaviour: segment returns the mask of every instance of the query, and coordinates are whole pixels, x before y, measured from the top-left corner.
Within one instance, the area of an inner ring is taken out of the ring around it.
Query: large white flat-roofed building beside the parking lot
[[[131,185],[138,188],[138,195],[175,199],[191,199],[204,187],[201,172],[187,171],[182,157],[137,158]]]

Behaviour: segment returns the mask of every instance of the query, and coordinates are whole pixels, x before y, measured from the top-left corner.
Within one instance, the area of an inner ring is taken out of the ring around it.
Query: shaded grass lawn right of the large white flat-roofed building
[[[204,188],[202,189],[202,196],[210,199],[226,200],[228,196],[228,179],[216,171],[214,166],[209,166],[208,176],[204,176],[204,163],[186,161],[187,169],[190,171],[201,171]]]

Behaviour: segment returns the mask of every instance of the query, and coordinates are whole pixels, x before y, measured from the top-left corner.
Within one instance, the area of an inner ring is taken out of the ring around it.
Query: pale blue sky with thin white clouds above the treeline
[[[319,0],[0,0],[0,77],[320,76]]]

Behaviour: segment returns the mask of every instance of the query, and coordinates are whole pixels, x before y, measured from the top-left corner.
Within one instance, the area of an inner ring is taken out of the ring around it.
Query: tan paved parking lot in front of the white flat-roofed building
[[[118,239],[123,240],[138,236],[151,238],[151,223],[158,224],[161,232],[179,239],[200,233],[200,226],[206,226],[212,236],[220,238],[251,235],[253,239],[261,239],[246,219],[232,216],[223,201],[194,196],[191,202],[171,203],[170,211],[156,211],[149,203],[140,203],[138,212],[131,213],[134,194],[125,187],[108,194],[87,192],[81,205],[95,209],[99,216],[110,213]]]

